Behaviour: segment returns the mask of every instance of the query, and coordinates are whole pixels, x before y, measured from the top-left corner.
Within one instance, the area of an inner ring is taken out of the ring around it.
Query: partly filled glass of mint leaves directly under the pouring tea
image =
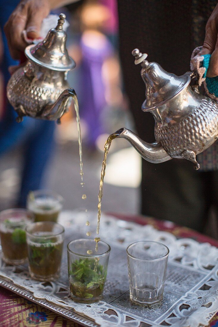
[[[110,246],[90,239],[78,239],[67,245],[70,295],[76,302],[100,301],[107,277]]]

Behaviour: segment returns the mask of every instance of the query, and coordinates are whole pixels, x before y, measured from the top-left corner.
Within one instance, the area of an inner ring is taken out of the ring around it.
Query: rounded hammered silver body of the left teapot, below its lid
[[[65,72],[46,69],[28,61],[11,76],[7,96],[15,111],[24,115],[39,117],[48,104],[53,104],[68,88]]]

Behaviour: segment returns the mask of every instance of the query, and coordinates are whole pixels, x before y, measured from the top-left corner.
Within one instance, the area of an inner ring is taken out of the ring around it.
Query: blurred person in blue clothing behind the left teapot
[[[3,0],[0,3],[0,31],[7,22],[10,14],[16,8],[19,0]],[[1,33],[1,116],[0,116],[0,155],[16,148],[23,150],[22,168],[19,176],[11,176],[14,170],[6,174],[7,182],[20,181],[15,203],[18,207],[26,206],[27,194],[30,190],[43,187],[45,167],[51,157],[54,147],[55,122],[31,119],[25,117],[22,123],[16,123],[16,113],[6,97],[6,85],[10,78],[9,66],[18,64],[11,58],[8,43],[4,33]],[[3,170],[1,170],[3,173]],[[13,182],[12,182],[13,184]],[[13,185],[14,186],[14,185]],[[2,193],[6,190],[2,188]],[[13,192],[13,191],[12,191]],[[6,192],[7,194],[7,192]]]

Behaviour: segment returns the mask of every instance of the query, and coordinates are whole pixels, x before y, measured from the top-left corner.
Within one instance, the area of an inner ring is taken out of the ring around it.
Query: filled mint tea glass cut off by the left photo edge
[[[26,226],[33,215],[25,209],[9,209],[0,213],[0,238],[3,260],[21,265],[27,260]]]

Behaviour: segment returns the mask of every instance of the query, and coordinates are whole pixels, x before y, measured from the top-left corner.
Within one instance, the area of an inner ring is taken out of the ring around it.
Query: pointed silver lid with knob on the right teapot
[[[158,63],[148,62],[147,54],[138,49],[132,51],[135,64],[141,64],[141,77],[146,85],[146,100],[142,104],[143,111],[151,111],[161,107],[175,95],[186,88],[191,81],[189,74],[176,76],[167,73]]]

